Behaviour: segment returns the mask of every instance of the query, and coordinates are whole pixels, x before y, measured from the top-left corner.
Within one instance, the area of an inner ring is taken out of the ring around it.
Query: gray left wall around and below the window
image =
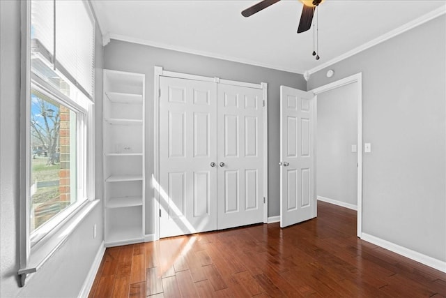
[[[84,218],[59,251],[19,288],[17,270],[20,234],[20,2],[0,1],[0,297],[77,297],[93,259],[102,243],[102,204]],[[97,32],[100,31],[97,27]],[[96,100],[102,102],[101,36],[96,40]],[[98,108],[98,105],[96,108]],[[100,108],[100,111],[102,108]],[[98,115],[96,133],[102,135],[101,115]],[[99,161],[101,158],[99,158]],[[102,164],[96,167],[100,169]],[[98,189],[100,195],[100,188]],[[93,240],[93,224],[98,235]]]

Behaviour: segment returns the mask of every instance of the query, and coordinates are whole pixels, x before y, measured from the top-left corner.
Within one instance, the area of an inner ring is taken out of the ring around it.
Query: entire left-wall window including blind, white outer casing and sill
[[[60,228],[84,214],[78,211],[94,197],[95,52],[87,1],[33,0],[23,7],[28,51],[22,285],[63,243],[68,232]]]

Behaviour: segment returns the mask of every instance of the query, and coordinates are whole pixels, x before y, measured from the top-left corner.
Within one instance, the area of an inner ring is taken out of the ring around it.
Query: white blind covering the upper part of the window
[[[54,63],[55,57],[56,69],[92,99],[95,21],[89,4],[79,0],[33,0],[31,23],[31,38],[45,47],[51,55],[49,62]]]

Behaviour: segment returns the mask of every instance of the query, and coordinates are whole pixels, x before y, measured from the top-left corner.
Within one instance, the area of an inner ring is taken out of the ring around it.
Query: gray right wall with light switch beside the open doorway
[[[362,72],[363,232],[446,261],[445,15],[314,73]]]

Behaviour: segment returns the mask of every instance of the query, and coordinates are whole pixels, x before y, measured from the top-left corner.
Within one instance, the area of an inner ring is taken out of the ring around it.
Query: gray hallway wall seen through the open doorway
[[[317,195],[357,205],[357,83],[318,94]]]

